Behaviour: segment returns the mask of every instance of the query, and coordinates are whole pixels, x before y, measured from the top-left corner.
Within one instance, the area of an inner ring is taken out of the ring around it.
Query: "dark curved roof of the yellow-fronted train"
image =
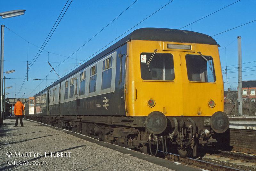
[[[169,28],[140,28],[140,29],[134,30],[129,35],[125,36],[124,38],[122,38],[115,44],[111,45],[106,50],[100,52],[98,55],[96,55],[95,57],[93,57],[83,65],[79,66],[78,68],[76,68],[75,70],[67,74],[66,76],[62,77],[60,80],[54,82],[52,85],[40,91],[34,97],[42,94],[47,89],[66,80],[70,76],[79,72],[84,67],[91,65],[93,62],[97,61],[101,57],[107,55],[108,53],[115,50],[116,48],[124,45],[126,42],[132,41],[132,40],[166,41],[166,42],[177,42],[177,43],[200,43],[200,44],[218,45],[217,42],[211,36],[205,35],[202,33],[193,32],[193,31],[176,30],[176,29],[169,29]]]

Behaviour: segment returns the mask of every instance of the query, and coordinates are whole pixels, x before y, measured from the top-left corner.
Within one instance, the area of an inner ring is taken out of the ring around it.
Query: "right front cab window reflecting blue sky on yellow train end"
[[[211,56],[186,55],[188,80],[193,82],[215,82],[213,59]]]

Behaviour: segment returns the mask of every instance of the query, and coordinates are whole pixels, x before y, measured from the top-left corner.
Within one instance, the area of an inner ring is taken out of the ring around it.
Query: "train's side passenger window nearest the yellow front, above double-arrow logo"
[[[113,57],[103,61],[101,89],[111,87]]]

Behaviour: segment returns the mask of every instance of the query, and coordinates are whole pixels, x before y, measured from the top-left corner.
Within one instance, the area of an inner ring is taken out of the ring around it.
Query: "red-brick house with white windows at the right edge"
[[[255,90],[256,90],[256,80],[252,81],[242,81],[242,97],[243,100],[250,100],[251,102],[255,102]]]

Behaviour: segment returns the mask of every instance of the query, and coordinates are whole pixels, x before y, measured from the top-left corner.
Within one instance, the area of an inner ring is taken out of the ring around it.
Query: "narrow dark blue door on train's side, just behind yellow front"
[[[120,58],[120,78],[118,81],[119,85],[119,104],[118,108],[122,109],[121,114],[125,113],[125,104],[124,104],[124,84],[125,84],[125,64],[126,64],[126,54],[127,54],[127,43],[121,47],[121,53],[118,54]]]

